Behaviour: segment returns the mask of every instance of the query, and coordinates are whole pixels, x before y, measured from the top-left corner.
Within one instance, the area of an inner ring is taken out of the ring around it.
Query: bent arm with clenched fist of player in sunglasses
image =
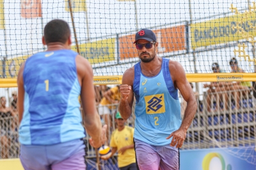
[[[134,79],[134,67],[131,67],[125,71],[122,78],[122,85],[120,85],[121,99],[118,105],[120,115],[124,120],[127,120],[132,114],[133,104],[133,79]]]

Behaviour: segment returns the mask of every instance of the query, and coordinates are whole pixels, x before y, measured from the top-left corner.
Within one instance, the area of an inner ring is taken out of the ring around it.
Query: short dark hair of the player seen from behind
[[[45,43],[66,43],[70,36],[70,28],[64,20],[51,20],[44,27]]]

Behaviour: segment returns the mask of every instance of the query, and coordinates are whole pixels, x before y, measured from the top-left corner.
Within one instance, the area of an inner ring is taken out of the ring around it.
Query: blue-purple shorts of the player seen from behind
[[[84,170],[85,147],[82,139],[56,145],[20,145],[20,162],[25,170]]]

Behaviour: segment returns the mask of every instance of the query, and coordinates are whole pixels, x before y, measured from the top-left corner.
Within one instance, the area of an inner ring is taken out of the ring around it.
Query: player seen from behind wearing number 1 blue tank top
[[[106,141],[95,108],[93,72],[88,60],[70,50],[70,28],[52,20],[44,28],[46,52],[22,64],[18,75],[20,161],[26,170],[85,169],[84,126],[98,148]]]

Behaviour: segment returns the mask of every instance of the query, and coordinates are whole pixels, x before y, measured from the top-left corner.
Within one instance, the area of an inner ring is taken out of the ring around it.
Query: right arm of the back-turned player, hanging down
[[[83,106],[84,126],[92,137],[93,145],[102,145],[102,126],[95,106],[95,92],[93,87],[93,71],[90,63],[80,55],[76,57],[77,75],[81,84],[81,103]]]

